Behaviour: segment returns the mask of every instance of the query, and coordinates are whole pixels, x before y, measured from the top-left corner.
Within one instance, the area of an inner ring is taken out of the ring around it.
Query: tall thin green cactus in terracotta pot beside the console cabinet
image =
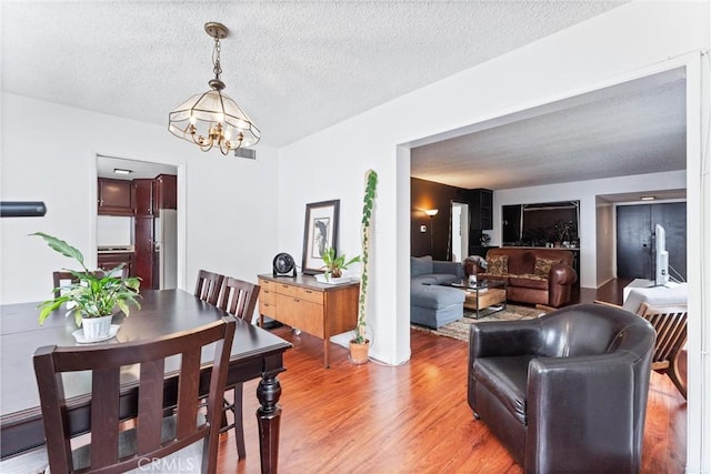
[[[378,185],[378,173],[374,170],[365,172],[365,193],[363,195],[363,212],[361,216],[361,278],[360,291],[358,294],[358,323],[356,325],[356,335],[350,342],[351,361],[354,364],[364,364],[368,362],[368,350],[370,341],[365,336],[365,309],[368,303],[368,262],[370,258],[370,238],[371,221],[373,215],[373,206],[375,204],[375,188]]]

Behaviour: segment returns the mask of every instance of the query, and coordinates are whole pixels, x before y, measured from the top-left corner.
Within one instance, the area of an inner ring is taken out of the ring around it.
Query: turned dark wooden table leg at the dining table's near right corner
[[[259,451],[263,474],[277,473],[279,461],[279,424],[281,407],[278,405],[281,396],[281,385],[276,373],[263,373],[257,386],[257,399],[260,407],[257,410],[259,425]]]

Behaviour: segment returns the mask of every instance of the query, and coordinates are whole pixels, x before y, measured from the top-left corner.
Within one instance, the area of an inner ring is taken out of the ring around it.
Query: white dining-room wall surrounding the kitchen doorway
[[[40,119],[41,120],[38,120]],[[66,259],[29,233],[43,231],[77,246],[96,265],[96,155],[178,165],[179,281],[193,290],[200,268],[257,281],[278,251],[278,152],[257,161],[202,153],[164,127],[2,94],[3,201],[44,201],[44,218],[2,219],[0,301],[38,301]],[[38,133],[40,132],[40,133]],[[272,219],[269,219],[272,216]]]

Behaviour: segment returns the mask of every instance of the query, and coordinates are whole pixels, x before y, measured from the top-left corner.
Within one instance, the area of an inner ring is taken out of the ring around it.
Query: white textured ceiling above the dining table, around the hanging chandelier
[[[226,92],[280,147],[625,1],[4,0],[2,89],[167,125],[219,21]]]

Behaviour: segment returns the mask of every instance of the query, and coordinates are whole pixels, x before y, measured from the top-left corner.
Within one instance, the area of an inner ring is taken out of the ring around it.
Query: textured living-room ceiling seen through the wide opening
[[[500,190],[683,170],[685,124],[685,80],[673,70],[414,148],[412,175]]]

